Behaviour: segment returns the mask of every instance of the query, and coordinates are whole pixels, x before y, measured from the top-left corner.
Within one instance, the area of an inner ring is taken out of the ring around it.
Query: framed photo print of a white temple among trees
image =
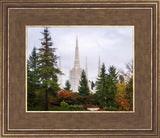
[[[27,111],[134,111],[133,26],[27,26]]]

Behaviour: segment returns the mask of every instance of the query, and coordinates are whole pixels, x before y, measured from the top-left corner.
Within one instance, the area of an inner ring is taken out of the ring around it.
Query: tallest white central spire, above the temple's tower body
[[[76,49],[75,49],[74,67],[78,67],[78,68],[80,67],[78,37],[76,37]]]

